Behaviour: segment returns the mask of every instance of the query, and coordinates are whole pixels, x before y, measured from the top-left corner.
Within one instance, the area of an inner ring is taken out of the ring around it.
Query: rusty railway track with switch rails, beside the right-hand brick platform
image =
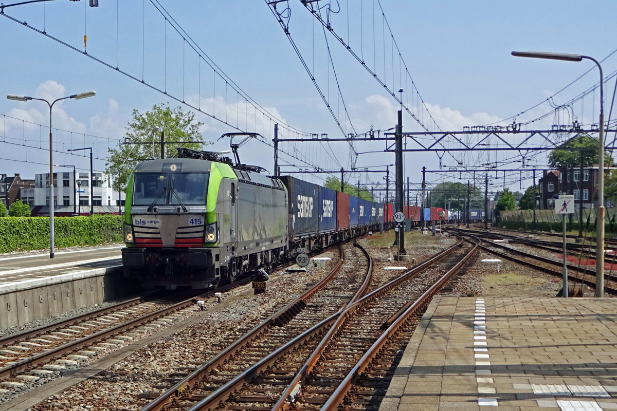
[[[415,322],[413,313],[419,315],[418,311],[426,307],[431,296],[474,250],[459,242],[357,302],[350,301],[343,310],[272,351],[196,404],[199,398],[191,396],[193,402],[184,402],[181,409],[335,409],[329,401],[344,401],[352,381],[391,336],[402,343],[395,336],[396,330],[408,320]],[[420,272],[425,272],[422,280],[418,280]],[[410,303],[402,306],[401,301]],[[379,393],[383,395],[384,391]],[[188,395],[182,397],[189,399]],[[174,404],[176,409],[180,409],[179,405]]]

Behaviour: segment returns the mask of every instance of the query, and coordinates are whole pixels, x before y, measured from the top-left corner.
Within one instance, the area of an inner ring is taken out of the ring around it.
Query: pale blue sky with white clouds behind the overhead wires
[[[513,121],[524,123],[524,129],[550,129],[574,120],[597,124],[597,90],[566,108],[550,105],[566,104],[597,85],[594,63],[523,59],[510,52],[589,55],[602,60],[605,78],[617,66],[612,54],[617,29],[607,18],[616,15],[614,1],[322,0],[317,6],[314,14],[329,21],[332,33],[298,0],[277,4],[289,36],[259,0],[99,0],[99,7],[88,7],[84,0],[56,0],[6,7],[0,15],[0,94],[51,101],[96,91],[95,97],[54,105],[56,164],[86,171],[87,151],[74,155],[66,150],[93,147],[94,169],[104,171],[107,147],[123,140],[133,110],[169,103],[196,113],[204,123],[202,138],[213,142],[208,150],[229,149],[230,139],[218,140],[225,132],[262,134],[264,142],[247,140],[239,155],[243,163],[263,166],[271,174],[274,123],[280,124],[283,139],[359,135],[371,128],[383,137],[393,132],[401,108],[391,91],[434,132]],[[614,87],[611,77],[605,83],[606,116]],[[405,110],[402,123],[404,132],[423,131]],[[2,97],[0,173],[25,178],[48,173],[48,134],[48,105]],[[391,145],[386,140],[356,141],[350,152],[347,142],[281,142],[281,174],[315,166],[383,170],[394,164],[394,153],[384,152]],[[412,141],[406,147],[417,148]],[[404,155],[404,179],[418,184],[425,166],[443,171],[427,173],[427,182],[465,182],[473,174],[463,170],[482,164],[520,169],[517,156],[486,150],[409,152]],[[528,158],[526,166],[542,169],[546,164],[543,152]],[[392,180],[394,167],[389,168]],[[491,174],[491,190],[523,191],[531,185],[528,171],[506,174],[507,179],[503,173]],[[334,175],[339,178],[340,173]],[[296,176],[320,182],[327,174]],[[384,176],[350,173],[346,181],[377,187]],[[476,177],[478,184],[483,182],[483,174]]]

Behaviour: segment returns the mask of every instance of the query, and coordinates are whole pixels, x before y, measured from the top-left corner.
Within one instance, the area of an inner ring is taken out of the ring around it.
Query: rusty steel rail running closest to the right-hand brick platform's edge
[[[352,388],[352,385],[357,380],[357,378],[362,374],[362,372],[370,365],[371,361],[378,355],[381,348],[383,348],[384,344],[386,344],[387,340],[400,328],[401,325],[405,323],[405,321],[415,312],[420,311],[424,307],[428,306],[433,296],[441,290],[441,288],[445,285],[447,280],[452,277],[453,274],[458,272],[458,270],[473,256],[476,251],[478,251],[479,243],[476,244],[470,252],[461,259],[452,269],[446,272],[436,283],[434,283],[426,292],[420,296],[420,298],[416,299],[410,306],[402,312],[399,317],[392,322],[392,324],[387,327],[386,331],[379,336],[378,340],[373,343],[370,349],[365,352],[360,360],[358,360],[357,364],[354,365],[352,370],[345,376],[341,384],[334,390],[334,393],[330,395],[328,401],[321,407],[321,411],[327,410],[336,410],[340,404],[345,399],[347,393]]]

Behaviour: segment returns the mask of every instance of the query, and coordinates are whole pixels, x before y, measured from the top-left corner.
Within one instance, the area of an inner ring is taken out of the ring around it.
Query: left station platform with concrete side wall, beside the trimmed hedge
[[[49,251],[0,255],[0,329],[134,292],[123,278],[122,247],[57,250],[54,258]]]

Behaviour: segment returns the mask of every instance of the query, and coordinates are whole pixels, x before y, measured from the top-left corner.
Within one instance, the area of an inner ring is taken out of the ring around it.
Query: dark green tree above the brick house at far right
[[[579,168],[581,167],[581,150],[571,150],[587,148],[582,150],[582,166],[590,167],[598,164],[598,140],[587,134],[578,134],[565,143],[560,145],[560,149],[555,149],[549,154],[549,166],[555,169]],[[615,162],[608,152],[604,152],[605,165],[612,165]]]

